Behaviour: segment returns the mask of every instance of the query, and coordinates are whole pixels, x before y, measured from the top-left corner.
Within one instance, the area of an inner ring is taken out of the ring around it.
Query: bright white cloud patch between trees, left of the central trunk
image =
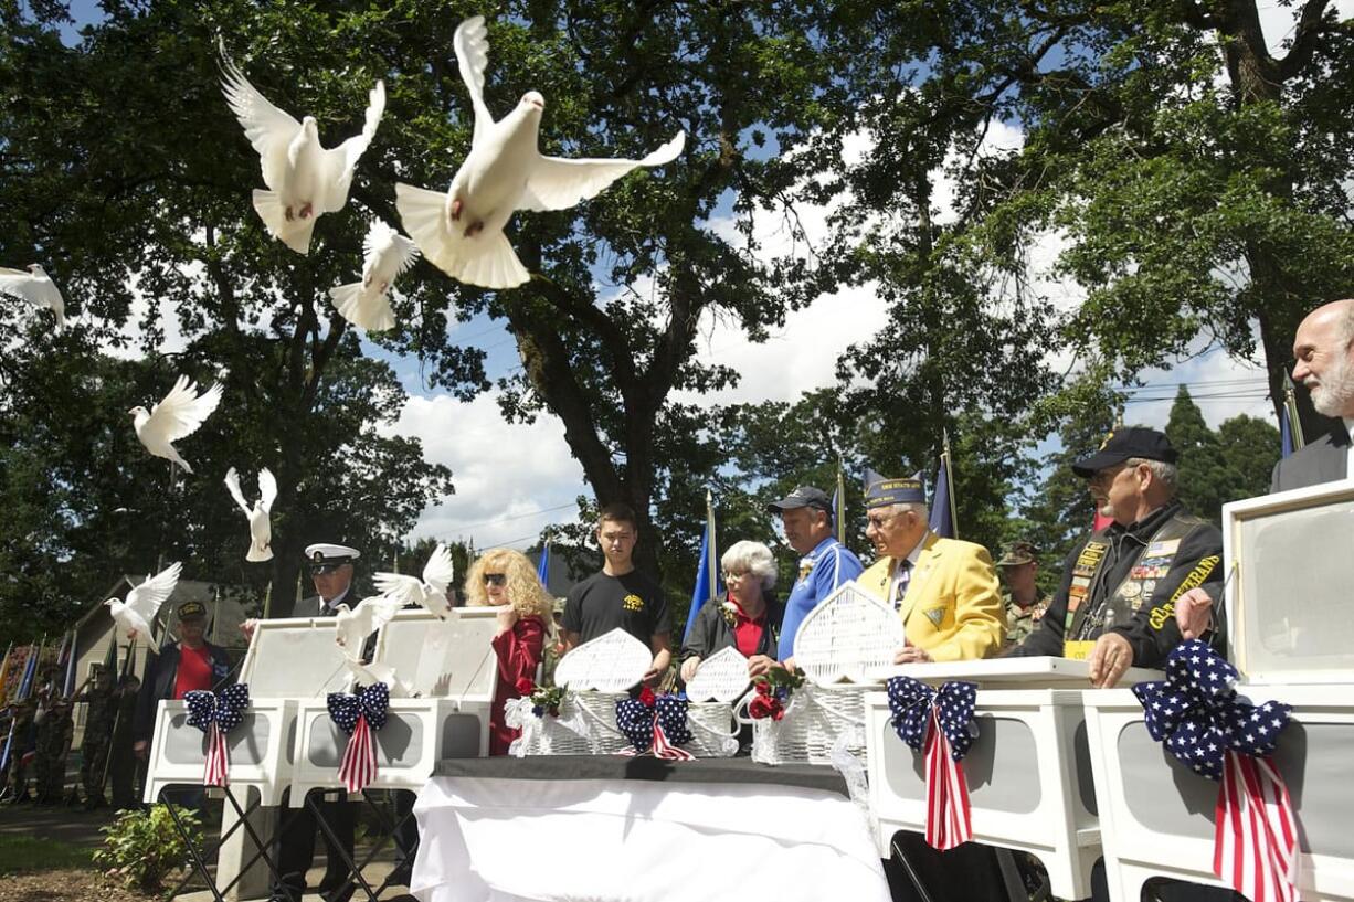
[[[473,538],[477,547],[532,542],[551,523],[574,519],[582,467],[552,416],[509,425],[497,393],[471,402],[439,394],[413,395],[386,429],[422,442],[424,459],[451,467],[456,494],[422,512],[412,538]],[[554,509],[565,508],[565,509]]]

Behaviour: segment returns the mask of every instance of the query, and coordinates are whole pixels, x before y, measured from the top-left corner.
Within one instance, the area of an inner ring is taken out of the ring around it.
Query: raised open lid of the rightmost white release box
[[[1227,627],[1246,683],[1354,683],[1354,481],[1223,505]]]

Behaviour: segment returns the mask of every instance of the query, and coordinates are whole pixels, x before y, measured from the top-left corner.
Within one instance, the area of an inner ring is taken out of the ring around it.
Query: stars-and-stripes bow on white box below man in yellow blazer
[[[926,842],[945,851],[974,838],[963,758],[978,735],[978,685],[952,680],[933,689],[913,677],[888,680],[898,738],[926,754]]]

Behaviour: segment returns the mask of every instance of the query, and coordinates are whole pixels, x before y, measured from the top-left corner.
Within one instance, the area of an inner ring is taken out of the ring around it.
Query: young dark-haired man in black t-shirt
[[[638,539],[634,511],[624,504],[609,504],[601,509],[597,543],[605,563],[601,573],[594,573],[569,592],[562,623],[565,653],[620,627],[653,649],[654,660],[645,681],[657,683],[672,660],[668,599],[654,580],[635,570],[631,558]]]

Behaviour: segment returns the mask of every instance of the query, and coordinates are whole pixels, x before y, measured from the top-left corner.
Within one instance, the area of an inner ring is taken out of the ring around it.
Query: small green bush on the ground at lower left
[[[192,842],[198,842],[198,815],[179,809]],[[169,809],[153,804],[145,811],[123,811],[103,828],[104,848],[93,853],[93,863],[104,875],[129,890],[152,894],[162,888],[168,874],[188,863],[188,844],[173,826]]]

